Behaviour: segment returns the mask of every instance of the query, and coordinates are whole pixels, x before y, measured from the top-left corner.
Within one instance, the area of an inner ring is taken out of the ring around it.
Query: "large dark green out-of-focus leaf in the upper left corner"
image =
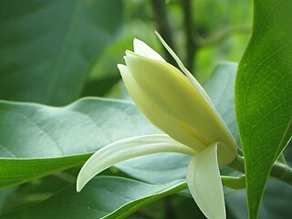
[[[0,1],[0,99],[64,105],[120,30],[120,0]]]

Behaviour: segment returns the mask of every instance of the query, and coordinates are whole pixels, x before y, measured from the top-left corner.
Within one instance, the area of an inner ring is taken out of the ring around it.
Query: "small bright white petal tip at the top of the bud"
[[[159,55],[154,49],[149,47],[140,39],[134,38],[134,53],[141,55],[142,57],[148,57],[154,60],[159,60],[165,62],[163,57]]]

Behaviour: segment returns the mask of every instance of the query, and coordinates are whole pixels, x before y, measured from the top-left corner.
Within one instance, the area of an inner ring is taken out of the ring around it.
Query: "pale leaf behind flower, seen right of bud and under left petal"
[[[239,142],[234,109],[236,67],[237,65],[232,62],[219,64],[212,76],[204,83],[203,88],[232,131],[235,140]],[[191,159],[192,157],[185,154],[162,153],[120,162],[115,166],[144,182],[168,183],[185,178],[186,167]]]

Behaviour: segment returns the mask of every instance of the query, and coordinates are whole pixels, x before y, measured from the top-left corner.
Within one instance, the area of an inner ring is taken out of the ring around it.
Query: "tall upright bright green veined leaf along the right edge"
[[[249,217],[257,218],[269,172],[292,134],[292,1],[254,1],[254,30],[235,86]]]

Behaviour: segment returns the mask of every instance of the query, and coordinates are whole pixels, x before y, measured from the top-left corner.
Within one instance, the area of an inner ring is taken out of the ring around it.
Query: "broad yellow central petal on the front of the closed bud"
[[[141,88],[141,92],[147,95],[158,108],[173,118],[181,120],[185,126],[191,127],[194,137],[204,145],[210,145],[216,141],[225,142],[225,145],[220,148],[222,151],[220,154],[224,154],[224,158],[220,159],[220,164],[226,165],[233,161],[236,145],[229,130],[226,130],[224,123],[201,93],[179,69],[168,63],[143,57],[127,56],[125,60],[130,75]],[[131,96],[134,92],[135,90],[130,93]],[[137,103],[138,100],[135,101]],[[230,152],[232,154],[229,154]]]

